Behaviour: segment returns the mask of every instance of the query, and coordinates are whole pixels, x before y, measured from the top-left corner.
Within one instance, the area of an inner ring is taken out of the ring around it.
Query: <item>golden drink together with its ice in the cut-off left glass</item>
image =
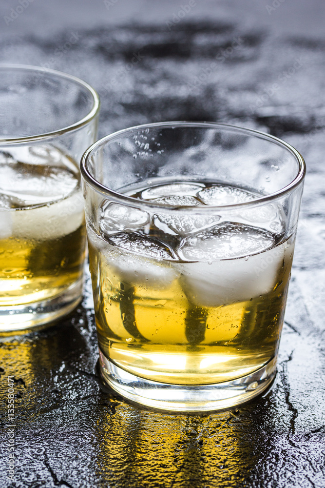
[[[10,153],[8,163],[2,162],[0,167],[4,175],[1,173],[0,198],[6,205],[0,208],[3,307],[61,295],[82,278],[86,244],[76,163],[50,145]],[[17,183],[5,179],[6,171],[12,172]],[[51,192],[57,195],[53,200]]]

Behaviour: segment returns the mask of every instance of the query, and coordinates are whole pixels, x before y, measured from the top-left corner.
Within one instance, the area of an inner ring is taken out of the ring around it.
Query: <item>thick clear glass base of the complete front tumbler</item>
[[[177,412],[205,412],[236,407],[260,395],[276,374],[276,358],[253,373],[212,385],[170,385],[140,378],[115,366],[99,350],[103,380],[126,399]]]

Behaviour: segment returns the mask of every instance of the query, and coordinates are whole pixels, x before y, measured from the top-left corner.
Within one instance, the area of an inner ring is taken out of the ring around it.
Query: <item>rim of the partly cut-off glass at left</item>
[[[65,134],[67,132],[74,131],[76,129],[79,129],[80,127],[83,127],[86,125],[88,122],[92,121],[98,114],[99,108],[100,108],[100,101],[99,101],[99,96],[96,92],[96,90],[86,81],[81,80],[80,78],[77,78],[74,75],[70,75],[68,73],[65,73],[63,71],[58,71],[56,69],[52,68],[43,68],[41,66],[32,66],[28,64],[12,64],[12,63],[0,63],[0,73],[2,70],[7,70],[8,72],[10,70],[12,71],[21,71],[21,72],[27,72],[27,71],[34,71],[35,73],[38,73],[38,76],[41,76],[41,74],[48,74],[48,75],[55,75],[61,79],[65,79],[68,81],[73,81],[78,85],[83,86],[88,90],[88,92],[92,95],[93,98],[93,106],[91,110],[88,112],[85,117],[82,119],[67,125],[65,127],[61,127],[55,131],[50,131],[50,132],[44,132],[41,134],[35,134],[32,136],[23,136],[23,137],[12,137],[12,138],[2,138],[0,137],[0,145],[12,145],[12,144],[18,144],[18,143],[27,143],[27,142],[35,142],[35,141],[43,141],[46,139],[52,139],[53,137],[60,136],[62,134]]]

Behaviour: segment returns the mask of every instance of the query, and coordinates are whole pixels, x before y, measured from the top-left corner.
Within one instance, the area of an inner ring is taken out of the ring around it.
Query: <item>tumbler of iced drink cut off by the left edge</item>
[[[0,333],[70,312],[83,286],[79,161],[96,140],[98,96],[74,76],[0,65]]]

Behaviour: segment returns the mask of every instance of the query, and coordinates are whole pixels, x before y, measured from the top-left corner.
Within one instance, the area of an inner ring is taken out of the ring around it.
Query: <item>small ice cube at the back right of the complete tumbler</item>
[[[206,205],[232,205],[249,202],[257,198],[246,190],[226,184],[215,184],[204,188],[197,196]]]

